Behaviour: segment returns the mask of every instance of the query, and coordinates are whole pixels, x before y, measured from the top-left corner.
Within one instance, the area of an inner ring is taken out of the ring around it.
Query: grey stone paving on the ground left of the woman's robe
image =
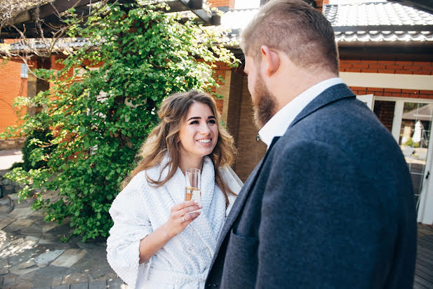
[[[105,242],[62,243],[72,231],[67,222],[45,222],[31,203],[0,199],[0,288],[127,288],[109,267]]]

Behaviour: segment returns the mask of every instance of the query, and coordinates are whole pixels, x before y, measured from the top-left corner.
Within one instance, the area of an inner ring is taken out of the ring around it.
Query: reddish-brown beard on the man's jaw
[[[253,101],[254,123],[260,130],[269,119],[277,113],[277,98],[267,89],[265,81],[259,74],[254,86]]]

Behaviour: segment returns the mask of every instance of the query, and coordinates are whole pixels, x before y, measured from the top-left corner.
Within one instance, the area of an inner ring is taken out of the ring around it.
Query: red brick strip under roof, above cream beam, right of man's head
[[[340,72],[433,75],[433,62],[340,60]]]

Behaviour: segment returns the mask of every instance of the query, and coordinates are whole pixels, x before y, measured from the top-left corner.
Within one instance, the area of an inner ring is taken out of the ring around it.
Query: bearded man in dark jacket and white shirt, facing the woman
[[[411,177],[338,78],[331,24],[300,0],[271,0],[241,48],[268,150],[227,217],[207,288],[412,288]]]

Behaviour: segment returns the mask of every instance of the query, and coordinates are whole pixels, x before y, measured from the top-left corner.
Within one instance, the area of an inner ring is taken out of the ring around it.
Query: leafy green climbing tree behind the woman
[[[18,102],[43,107],[36,116],[25,115],[22,132],[50,128],[51,137],[48,144],[32,139],[39,146],[30,159],[45,166],[14,168],[8,177],[25,184],[20,198],[33,196],[46,220],[70,217],[84,241],[107,236],[112,227],[108,210],[158,119],[161,100],[189,89],[210,91],[217,85],[213,63],[236,65],[218,29],[147,2],[100,7],[84,25],[69,18],[69,36],[87,39],[86,46],[69,52],[60,71],[37,70],[51,89]]]

